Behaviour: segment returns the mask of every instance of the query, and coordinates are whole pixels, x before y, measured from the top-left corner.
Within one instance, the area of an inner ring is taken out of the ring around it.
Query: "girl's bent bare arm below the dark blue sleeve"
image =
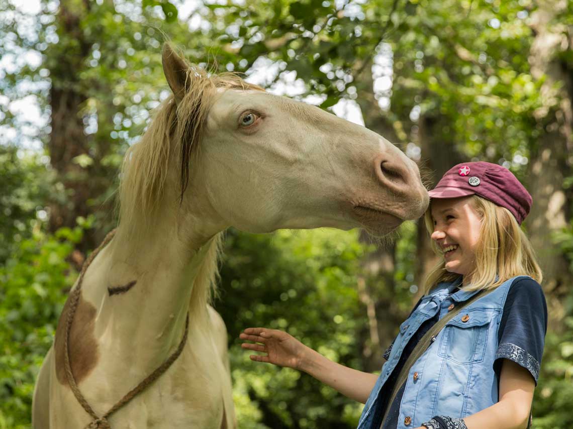
[[[499,402],[485,408],[485,410],[476,412],[476,414],[465,417],[463,420],[468,429],[485,427],[497,429],[527,428],[533,401],[533,389],[535,389],[535,381],[531,373],[515,362],[504,359],[501,365]],[[445,429],[443,424],[436,427]],[[417,429],[426,429],[426,427],[421,426]]]

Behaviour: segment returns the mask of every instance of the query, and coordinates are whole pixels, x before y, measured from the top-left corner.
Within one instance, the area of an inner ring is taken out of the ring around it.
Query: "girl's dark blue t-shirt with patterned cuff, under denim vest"
[[[453,290],[452,294],[458,290]],[[411,313],[414,312],[420,302],[421,299],[414,306]],[[439,312],[433,318],[423,322],[410,341],[408,341],[408,344],[406,344],[398,364],[388,377],[386,382],[387,388],[380,392],[375,411],[379,415],[379,419],[376,420],[382,422],[383,413],[390,400],[394,384],[410,353],[414,350],[418,341],[438,320]],[[516,280],[509,288],[497,334],[499,346],[496,352],[496,360],[493,363],[493,371],[496,372],[497,379],[499,380],[500,377],[502,359],[509,359],[526,368],[537,385],[546,332],[547,303],[545,302],[541,285],[531,278]],[[384,357],[388,359],[389,354],[387,351]],[[400,403],[402,402],[405,387],[406,383],[402,384],[394,402],[390,405],[387,412],[388,417],[382,429],[395,429],[398,426]]]

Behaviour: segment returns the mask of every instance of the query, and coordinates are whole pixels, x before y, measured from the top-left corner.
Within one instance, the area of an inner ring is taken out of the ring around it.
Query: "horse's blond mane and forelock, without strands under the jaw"
[[[129,148],[121,167],[119,187],[120,219],[135,225],[157,208],[162,198],[169,163],[178,160],[180,198],[189,183],[193,152],[203,135],[209,109],[218,88],[261,90],[237,73],[209,75],[186,63],[185,95],[168,97],[154,112],[151,123],[139,143]]]

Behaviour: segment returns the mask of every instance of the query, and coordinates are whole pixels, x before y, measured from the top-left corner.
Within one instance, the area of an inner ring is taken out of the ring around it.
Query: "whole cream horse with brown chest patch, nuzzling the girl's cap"
[[[221,231],[384,235],[428,205],[416,164],[376,133],[236,76],[207,76],[168,45],[163,70],[173,94],[125,156],[116,234],[74,286],[71,373],[102,416],[182,343],[189,314],[185,347],[98,426],[66,377],[68,300],[34,391],[36,429],[235,427],[226,329],[209,306]]]

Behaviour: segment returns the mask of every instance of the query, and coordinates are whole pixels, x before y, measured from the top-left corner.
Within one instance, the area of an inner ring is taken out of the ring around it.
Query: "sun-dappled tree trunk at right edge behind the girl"
[[[525,226],[543,270],[550,325],[554,328],[563,317],[563,297],[569,293],[573,280],[566,257],[551,239],[552,233],[570,222],[571,207],[567,203],[573,198],[572,190],[563,188],[563,179],[573,175],[573,68],[557,56],[562,46],[571,44],[562,29],[551,26],[551,20],[564,5],[555,1],[539,3],[531,17],[535,40],[529,56],[533,77],[546,80],[541,88],[543,107],[535,115],[544,133],[533,148],[529,163],[527,185],[533,206]]]

